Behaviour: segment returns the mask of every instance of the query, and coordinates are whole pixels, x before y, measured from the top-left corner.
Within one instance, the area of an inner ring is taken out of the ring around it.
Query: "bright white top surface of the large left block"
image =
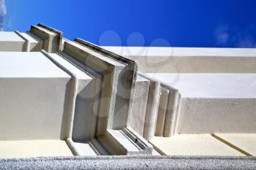
[[[0,77],[70,77],[39,52],[0,52]]]

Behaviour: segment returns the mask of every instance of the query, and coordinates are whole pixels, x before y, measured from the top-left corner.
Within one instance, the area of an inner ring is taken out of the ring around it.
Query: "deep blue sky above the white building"
[[[5,0],[5,4],[5,31],[27,31],[45,23],[68,39],[80,37],[98,45],[256,47],[255,0]]]

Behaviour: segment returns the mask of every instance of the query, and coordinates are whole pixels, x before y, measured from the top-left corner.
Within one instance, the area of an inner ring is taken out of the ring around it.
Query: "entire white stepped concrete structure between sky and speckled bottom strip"
[[[255,155],[255,64],[255,49],[0,32],[0,158]]]

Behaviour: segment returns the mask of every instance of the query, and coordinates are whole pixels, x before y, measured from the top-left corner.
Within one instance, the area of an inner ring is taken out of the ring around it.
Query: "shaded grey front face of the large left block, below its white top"
[[[0,78],[0,140],[60,139],[66,78]]]

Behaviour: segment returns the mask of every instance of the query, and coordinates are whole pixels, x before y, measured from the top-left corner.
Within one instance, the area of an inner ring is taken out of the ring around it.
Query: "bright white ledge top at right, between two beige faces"
[[[148,73],[187,98],[256,98],[256,74]]]

